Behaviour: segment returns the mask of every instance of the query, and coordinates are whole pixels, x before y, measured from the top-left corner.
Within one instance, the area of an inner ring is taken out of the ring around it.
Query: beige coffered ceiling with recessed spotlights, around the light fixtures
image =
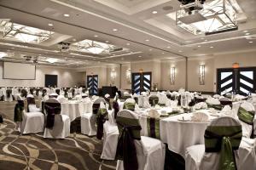
[[[76,68],[256,49],[256,1],[236,2],[238,30],[195,36],[178,28],[170,17],[180,6],[177,0],[0,0],[1,19],[55,32],[40,43],[0,37],[0,51],[9,54],[2,59],[22,60],[25,55],[42,65]],[[77,42],[85,39],[119,50],[104,54],[76,50]],[[73,48],[63,51],[60,42]],[[48,58],[58,60],[51,64]]]

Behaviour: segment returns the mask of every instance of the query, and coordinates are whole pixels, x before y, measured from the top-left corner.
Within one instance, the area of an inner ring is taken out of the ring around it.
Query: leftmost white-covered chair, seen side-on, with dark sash
[[[21,119],[15,120],[20,122],[19,130],[21,134],[44,132],[44,114],[41,112],[26,112],[24,110],[24,100],[20,95],[17,96],[18,103],[15,105],[15,115],[21,111]],[[23,108],[22,110],[20,108]]]

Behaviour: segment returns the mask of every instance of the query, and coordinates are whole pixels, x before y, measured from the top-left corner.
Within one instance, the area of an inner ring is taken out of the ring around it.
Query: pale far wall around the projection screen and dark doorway
[[[11,80],[3,79],[3,62],[0,62],[0,87],[44,87],[44,75],[58,75],[58,87],[73,87],[83,82],[82,73],[75,70],[37,65],[35,80]]]

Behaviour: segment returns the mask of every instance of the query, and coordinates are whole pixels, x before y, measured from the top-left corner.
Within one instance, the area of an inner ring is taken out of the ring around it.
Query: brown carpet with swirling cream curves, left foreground
[[[101,160],[102,141],[72,133],[67,139],[44,139],[43,133],[15,131],[14,104],[0,104],[0,169],[110,170],[116,161]]]

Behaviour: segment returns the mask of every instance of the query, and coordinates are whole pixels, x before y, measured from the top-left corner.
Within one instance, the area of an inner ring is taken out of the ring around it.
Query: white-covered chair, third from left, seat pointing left
[[[81,115],[81,133],[93,136],[96,135],[96,113],[100,107],[101,102],[106,103],[105,99],[98,98],[93,102],[92,112],[83,113]]]

